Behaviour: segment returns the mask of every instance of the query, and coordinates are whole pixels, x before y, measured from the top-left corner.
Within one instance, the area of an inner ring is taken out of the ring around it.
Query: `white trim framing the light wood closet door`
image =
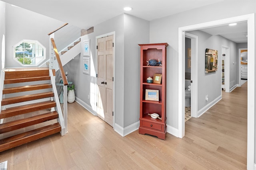
[[[113,31],[113,32],[110,32],[110,33],[106,33],[106,34],[102,34],[102,35],[98,35],[98,36],[96,36],[95,37],[95,50],[96,50],[96,68],[95,68],[95,70],[96,71],[98,71],[98,50],[97,50],[97,39],[99,39],[99,38],[102,38],[102,37],[107,37],[107,36],[110,36],[110,35],[113,35],[113,43],[114,43],[114,47],[113,47],[113,76],[114,76],[114,81],[113,81],[113,112],[114,112],[114,114],[113,114],[113,129],[115,129],[115,124],[116,124],[116,119],[115,119],[115,106],[116,106],[116,104],[115,104],[115,94],[116,94],[116,87],[115,87],[115,77],[116,77],[116,50],[115,50],[115,47],[116,47],[116,32],[115,31]],[[96,74],[98,74],[98,73],[96,73]],[[97,79],[97,78],[96,78]],[[97,106],[96,106],[96,102],[98,101],[98,94],[97,94],[97,81],[96,81],[96,84],[95,84],[95,107],[96,107],[96,115],[97,115]]]

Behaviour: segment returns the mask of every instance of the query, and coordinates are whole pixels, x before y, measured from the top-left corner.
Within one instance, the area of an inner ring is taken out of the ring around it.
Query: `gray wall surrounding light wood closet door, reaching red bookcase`
[[[64,69],[72,72],[72,75],[68,75],[68,79],[76,84],[76,97],[94,108],[95,100],[93,98],[88,100],[87,96],[92,93],[92,84],[96,83],[94,75],[97,72],[96,37],[113,31],[115,31],[116,36],[114,61],[115,122],[124,128],[139,120],[140,48],[138,44],[149,42],[149,21],[128,14],[121,14],[95,25],[93,33],[81,37],[81,42],[90,39],[91,64],[94,64],[91,75],[82,73],[82,55],[75,57],[74,60],[66,64]]]

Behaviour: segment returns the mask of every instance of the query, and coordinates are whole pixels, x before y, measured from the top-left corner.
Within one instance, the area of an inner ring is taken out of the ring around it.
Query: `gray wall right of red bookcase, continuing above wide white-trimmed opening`
[[[203,8],[197,8],[150,21],[150,43],[167,42],[169,44],[167,48],[166,90],[168,125],[178,128],[178,28],[207,21],[251,14],[256,12],[255,6],[255,1],[234,1],[232,3],[223,1],[214,4],[214,6],[205,6]],[[218,12],[216,12],[216,10]],[[198,54],[199,56],[204,56],[202,52],[200,53]],[[212,97],[214,98],[214,96]],[[205,105],[205,103],[203,105]]]

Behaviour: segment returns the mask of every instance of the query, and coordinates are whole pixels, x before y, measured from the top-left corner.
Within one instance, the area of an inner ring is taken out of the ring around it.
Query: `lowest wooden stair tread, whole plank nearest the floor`
[[[45,127],[34,129],[32,131],[24,132],[12,137],[7,137],[0,140],[0,152],[3,150],[11,149],[19,145],[35,141],[42,137],[52,135],[61,131],[61,126],[59,123],[54,123]]]

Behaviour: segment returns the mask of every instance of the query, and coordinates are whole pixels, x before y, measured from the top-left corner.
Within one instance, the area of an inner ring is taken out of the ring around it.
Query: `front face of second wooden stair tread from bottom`
[[[16,121],[17,123],[15,122],[15,124],[13,123],[13,125],[8,125],[7,126],[5,124],[2,124],[2,125],[0,125],[0,134],[10,132],[10,131],[14,131],[14,130],[17,130],[17,129],[21,129],[21,128],[24,128],[24,127],[28,127],[28,126],[31,126],[31,125],[36,125],[38,123],[43,123],[45,121],[57,119],[58,117],[59,117],[59,115],[56,112],[56,114],[51,114],[47,117],[40,117],[40,116],[30,117],[30,118],[27,118],[26,122]]]

